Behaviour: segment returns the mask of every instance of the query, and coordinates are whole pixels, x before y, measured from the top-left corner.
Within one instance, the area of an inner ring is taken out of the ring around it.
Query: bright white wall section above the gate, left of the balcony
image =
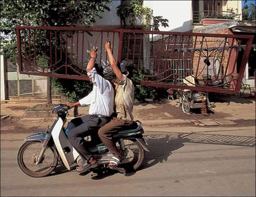
[[[169,20],[169,27],[160,27],[160,31],[185,32],[192,26],[192,1],[191,0],[147,0],[146,7],[153,9],[154,16],[163,16]]]

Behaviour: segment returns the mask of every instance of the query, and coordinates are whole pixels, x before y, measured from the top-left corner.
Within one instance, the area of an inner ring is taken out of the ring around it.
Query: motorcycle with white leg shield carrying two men
[[[26,137],[26,141],[18,151],[17,160],[22,172],[32,177],[43,177],[52,173],[58,163],[62,163],[66,169],[71,170],[75,166],[83,166],[85,159],[71,145],[66,136],[64,127],[69,107],[64,104],[57,104],[52,109],[52,113],[57,114],[57,118],[45,131],[33,131],[34,134]],[[115,167],[121,173],[137,170],[142,164],[147,142],[143,134],[142,123],[133,122],[130,130],[120,130],[113,135],[117,148],[122,151],[121,163]],[[97,131],[88,132],[84,138],[86,148],[96,158],[98,166],[89,169],[92,172],[104,172],[107,170],[109,160],[113,154],[102,143]]]

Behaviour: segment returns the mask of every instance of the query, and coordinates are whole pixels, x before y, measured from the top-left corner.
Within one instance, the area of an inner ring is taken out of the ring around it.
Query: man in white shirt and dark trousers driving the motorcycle
[[[109,116],[114,109],[114,89],[109,81],[102,77],[103,68],[95,64],[97,58],[97,47],[93,46],[90,53],[86,71],[93,83],[92,91],[75,103],[67,103],[70,108],[77,105],[90,105],[89,114],[71,120],[67,126],[68,139],[76,150],[88,161],[84,166],[78,167],[78,172],[85,172],[92,167],[96,167],[97,161],[92,157],[90,151],[84,146],[86,133],[102,127],[109,121]]]

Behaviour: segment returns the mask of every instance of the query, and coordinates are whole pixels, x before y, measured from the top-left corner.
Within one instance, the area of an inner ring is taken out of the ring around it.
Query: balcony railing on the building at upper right
[[[203,19],[229,19],[239,20],[240,14],[228,11],[205,10],[193,12],[193,23],[201,23]]]

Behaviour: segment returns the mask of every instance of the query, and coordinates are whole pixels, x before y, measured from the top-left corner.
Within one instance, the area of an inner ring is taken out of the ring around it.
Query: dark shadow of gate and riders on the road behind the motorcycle
[[[157,131],[146,132],[144,136],[149,144],[150,154],[146,154],[140,170],[167,161],[172,151],[183,147],[186,142],[250,147],[256,144],[256,138],[248,136]]]

